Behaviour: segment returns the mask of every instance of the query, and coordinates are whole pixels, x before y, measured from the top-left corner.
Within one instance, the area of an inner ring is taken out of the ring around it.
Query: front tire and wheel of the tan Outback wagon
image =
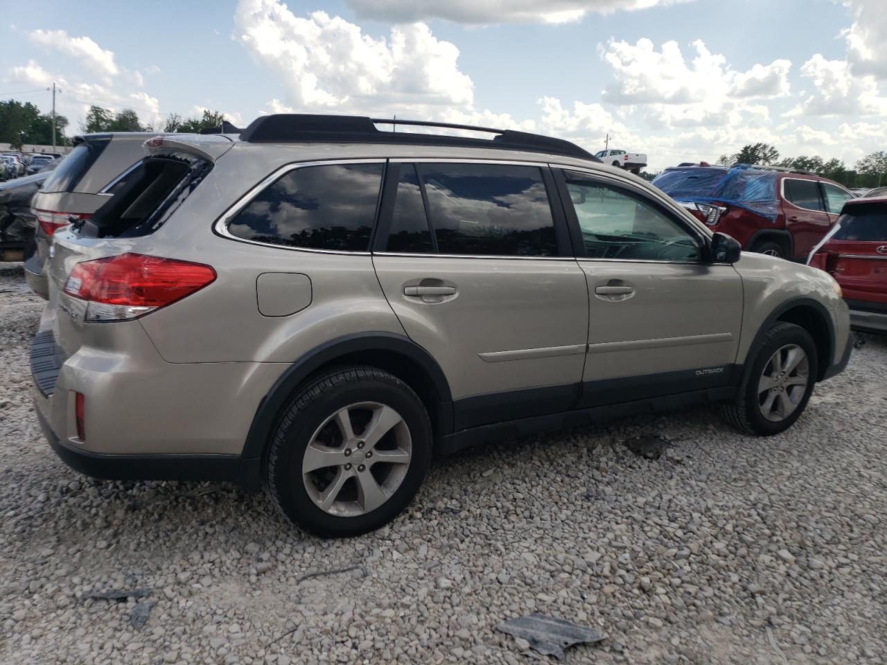
[[[810,400],[818,367],[816,345],[801,326],[778,323],[752,349],[749,362],[748,378],[736,400],[724,406],[724,415],[747,434],[784,432]]]

